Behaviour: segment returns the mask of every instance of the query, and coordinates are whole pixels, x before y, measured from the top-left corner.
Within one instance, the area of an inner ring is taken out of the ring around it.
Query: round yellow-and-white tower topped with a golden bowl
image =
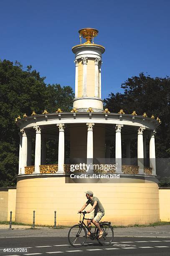
[[[103,112],[103,101],[101,100],[101,54],[104,53],[105,49],[104,46],[94,44],[93,39],[98,32],[94,28],[79,30],[80,41],[82,36],[86,38],[86,42],[72,48],[76,64],[73,107],[78,112],[87,111],[89,108],[92,108],[95,112]]]

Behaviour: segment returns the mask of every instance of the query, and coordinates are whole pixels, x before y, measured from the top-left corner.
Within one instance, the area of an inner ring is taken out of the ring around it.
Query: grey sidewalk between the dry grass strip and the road
[[[30,226],[13,225],[12,230],[8,230],[9,225],[0,225],[0,238],[12,237],[67,237],[69,228],[53,229],[37,227],[36,229],[25,229]],[[158,237],[170,238],[170,225],[155,227],[134,227],[134,228],[114,228],[115,237]]]

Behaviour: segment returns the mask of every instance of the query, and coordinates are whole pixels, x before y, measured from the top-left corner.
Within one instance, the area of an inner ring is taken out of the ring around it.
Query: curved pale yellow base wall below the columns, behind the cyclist
[[[15,221],[32,223],[35,210],[36,224],[53,225],[56,210],[57,225],[73,225],[79,221],[77,212],[86,202],[86,190],[92,190],[101,200],[105,208],[102,220],[112,221],[114,225],[159,221],[157,184],[142,183],[139,179],[129,182],[68,184],[65,177],[48,176],[20,180],[17,183]]]

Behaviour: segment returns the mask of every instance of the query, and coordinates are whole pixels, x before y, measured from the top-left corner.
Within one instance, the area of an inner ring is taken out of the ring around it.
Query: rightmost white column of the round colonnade
[[[154,130],[150,135],[150,167],[152,167],[152,175],[156,175],[155,134],[156,131]]]

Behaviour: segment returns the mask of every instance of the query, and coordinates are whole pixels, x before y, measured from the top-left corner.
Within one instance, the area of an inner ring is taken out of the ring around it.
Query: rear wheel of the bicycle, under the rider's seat
[[[107,223],[101,224],[100,227],[101,227],[101,230],[103,231],[103,236],[100,239],[98,238],[97,241],[102,246],[108,246],[109,244],[112,243],[113,238],[114,238],[113,228],[111,225],[109,225]],[[98,234],[99,234],[99,232],[98,232]]]

